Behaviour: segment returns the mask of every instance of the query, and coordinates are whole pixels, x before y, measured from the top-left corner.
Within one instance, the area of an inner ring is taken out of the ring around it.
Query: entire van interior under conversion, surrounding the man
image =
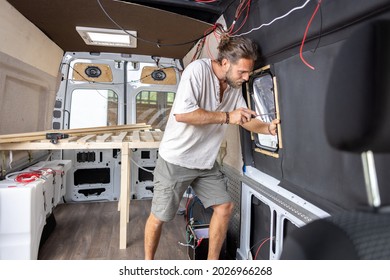
[[[220,258],[390,259],[388,0],[0,0],[0,27],[0,259],[144,258],[181,73],[224,34],[281,123],[228,128]],[[205,259],[211,215],[189,186],[156,258]]]

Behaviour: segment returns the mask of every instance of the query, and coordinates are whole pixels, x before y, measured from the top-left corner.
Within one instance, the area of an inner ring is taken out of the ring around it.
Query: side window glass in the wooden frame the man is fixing
[[[269,66],[259,69],[249,79],[248,92],[252,110],[263,122],[271,122],[278,112],[276,106],[276,82]],[[253,134],[257,151],[276,152],[279,148],[278,135]]]

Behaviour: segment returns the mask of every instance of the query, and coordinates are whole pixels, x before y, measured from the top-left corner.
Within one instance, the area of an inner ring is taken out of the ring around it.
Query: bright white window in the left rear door
[[[112,90],[76,89],[72,92],[69,128],[118,124],[118,95]]]

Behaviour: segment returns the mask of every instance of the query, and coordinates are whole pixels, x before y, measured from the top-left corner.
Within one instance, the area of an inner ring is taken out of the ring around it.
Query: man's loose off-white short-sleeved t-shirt
[[[241,88],[227,87],[220,102],[220,86],[208,58],[190,63],[184,70],[159,147],[167,162],[193,169],[211,169],[224,139],[226,124],[191,125],[177,122],[174,114],[202,108],[231,112],[247,108]]]

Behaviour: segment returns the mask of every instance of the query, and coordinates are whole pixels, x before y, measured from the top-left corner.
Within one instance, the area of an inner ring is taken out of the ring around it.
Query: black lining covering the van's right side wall
[[[305,2],[253,1],[247,24],[239,34],[268,23]],[[242,132],[244,160],[279,179],[282,187],[329,212],[340,208],[356,209],[367,205],[361,157],[359,153],[336,150],[328,143],[325,100],[341,47],[357,29],[373,21],[390,19],[390,1],[323,0],[302,53],[315,68],[312,70],[300,59],[299,49],[317,3],[310,1],[303,9],[246,35],[259,44],[262,52],[256,67],[271,64],[277,77],[283,149],[278,159],[254,152],[248,148],[253,143]],[[235,8],[232,5],[225,14],[228,26],[234,18]],[[356,81],[346,75],[343,82]],[[345,130],[348,131],[348,125]],[[390,173],[386,166],[390,164],[390,155],[375,154],[375,160],[382,205],[388,205],[390,186],[386,184]]]

